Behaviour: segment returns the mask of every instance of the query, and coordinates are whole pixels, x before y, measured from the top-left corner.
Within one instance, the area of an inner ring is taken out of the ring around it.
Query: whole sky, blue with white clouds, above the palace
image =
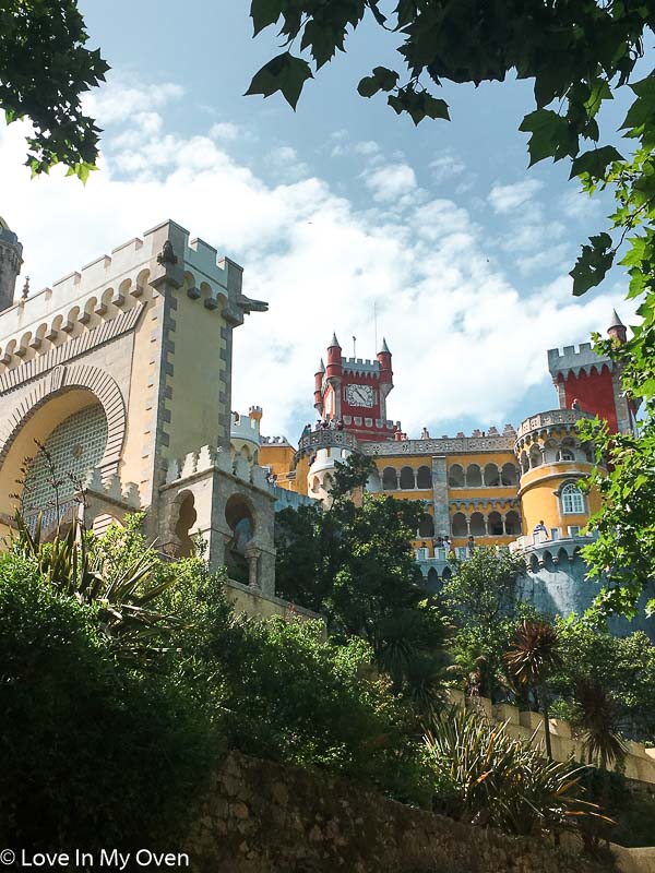
[[[517,132],[529,83],[444,89],[452,122],[418,129],[356,84],[395,63],[393,36],[364,26],[310,82],[294,113],[243,97],[274,53],[251,38],[247,2],[86,0],[92,45],[112,67],[90,98],[105,129],[86,189],[29,181],[19,125],[0,129],[1,212],[25,246],[33,287],[170,217],[246,268],[266,299],[235,335],[234,405],[264,407],[263,430],[296,439],[313,420],[313,372],[335,330],[352,354],[394,354],[388,402],[410,435],[517,424],[556,395],[546,350],[588,339],[622,303],[616,272],[575,301],[568,271],[605,206],[569,168],[527,170]],[[624,112],[607,110],[608,125]]]

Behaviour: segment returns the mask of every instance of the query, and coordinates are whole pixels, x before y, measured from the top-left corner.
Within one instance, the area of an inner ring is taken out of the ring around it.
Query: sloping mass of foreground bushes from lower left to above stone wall
[[[16,543],[0,555],[0,837],[7,845],[170,847],[227,749],[329,769],[511,833],[567,826],[567,810],[579,800],[575,780],[563,784],[564,765],[547,767],[538,753],[501,742],[498,732],[484,741],[479,728],[476,766],[487,769],[472,793],[455,778],[474,764],[468,741],[438,748],[438,738],[450,736],[442,719],[426,746],[425,725],[436,709],[419,707],[393,678],[373,670],[367,641],[325,637],[315,622],[236,615],[223,576],[198,558],[170,564],[148,553],[140,588],[114,585],[147,552],[138,522],[100,540],[86,537],[94,572],[104,579],[98,601],[80,596],[87,591],[80,579],[60,577],[84,572],[84,562],[66,554],[81,548],[74,537],[57,545],[55,563],[49,543]],[[132,601],[152,586],[159,594],[139,630]],[[120,603],[114,605],[116,591]],[[134,618],[109,629],[112,610]],[[526,800],[510,793],[517,778]],[[477,814],[479,798],[490,813]]]

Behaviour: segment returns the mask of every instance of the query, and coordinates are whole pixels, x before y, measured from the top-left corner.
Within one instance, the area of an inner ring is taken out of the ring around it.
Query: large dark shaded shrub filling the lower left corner
[[[168,847],[221,748],[182,687],[110,654],[95,607],[59,595],[34,562],[0,557],[5,842]]]

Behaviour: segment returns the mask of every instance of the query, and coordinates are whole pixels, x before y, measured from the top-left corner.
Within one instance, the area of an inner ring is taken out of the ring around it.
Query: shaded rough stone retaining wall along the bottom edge
[[[230,753],[188,845],[199,873],[592,873],[577,851],[458,824]]]

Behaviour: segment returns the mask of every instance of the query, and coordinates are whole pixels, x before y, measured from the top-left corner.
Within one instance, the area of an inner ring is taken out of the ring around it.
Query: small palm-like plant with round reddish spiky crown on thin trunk
[[[548,690],[546,682],[561,665],[557,631],[546,621],[526,619],[505,655],[508,669],[519,685],[534,690],[544,716],[546,754],[552,761],[550,721],[548,717]]]

